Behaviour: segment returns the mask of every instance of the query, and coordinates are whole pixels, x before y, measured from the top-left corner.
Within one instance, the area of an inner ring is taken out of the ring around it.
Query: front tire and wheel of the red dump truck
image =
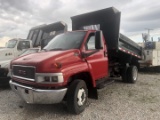
[[[86,83],[83,80],[74,80],[67,91],[67,108],[72,114],[84,111],[88,99]]]

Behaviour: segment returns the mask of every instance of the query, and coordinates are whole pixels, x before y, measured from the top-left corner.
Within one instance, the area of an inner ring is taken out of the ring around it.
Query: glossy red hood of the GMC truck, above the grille
[[[35,66],[37,72],[51,72],[55,70],[55,63],[62,67],[81,60],[79,50],[48,51],[29,54],[12,61],[12,65]]]

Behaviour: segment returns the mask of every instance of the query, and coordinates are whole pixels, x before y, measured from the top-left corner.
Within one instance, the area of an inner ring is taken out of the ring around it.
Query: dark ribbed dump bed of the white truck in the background
[[[57,34],[67,31],[67,24],[59,21],[52,24],[43,24],[30,29],[27,39],[32,40],[33,46],[40,46],[42,40],[47,44]]]

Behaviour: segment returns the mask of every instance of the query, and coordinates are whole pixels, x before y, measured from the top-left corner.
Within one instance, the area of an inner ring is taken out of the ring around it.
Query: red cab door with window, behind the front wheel
[[[95,80],[108,76],[106,46],[100,35],[98,39],[96,38],[98,38],[96,32],[92,32],[85,42],[85,59]],[[97,46],[97,44],[99,45]]]

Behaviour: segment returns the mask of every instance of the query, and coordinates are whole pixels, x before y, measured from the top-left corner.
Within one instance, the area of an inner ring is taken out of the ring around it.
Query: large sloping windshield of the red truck
[[[67,32],[54,37],[45,50],[79,49],[86,32]]]

